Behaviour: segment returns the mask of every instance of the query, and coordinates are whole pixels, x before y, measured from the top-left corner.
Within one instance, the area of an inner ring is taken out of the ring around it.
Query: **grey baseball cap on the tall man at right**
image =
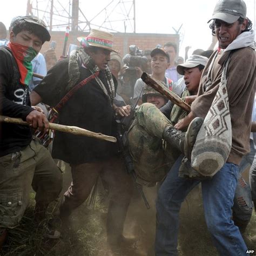
[[[246,18],[246,4],[242,0],[220,0],[214,8],[212,19],[220,19],[226,23],[234,23],[240,17]]]

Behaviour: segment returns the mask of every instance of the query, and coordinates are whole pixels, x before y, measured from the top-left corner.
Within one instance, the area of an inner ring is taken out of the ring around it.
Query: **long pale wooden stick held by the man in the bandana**
[[[29,125],[29,123],[24,122],[21,118],[13,118],[13,117],[5,117],[5,116],[0,116],[0,122]],[[68,132],[75,135],[93,137],[96,139],[107,140],[108,142],[117,142],[117,139],[112,136],[107,136],[102,133],[91,132],[77,126],[68,126],[68,125],[54,124],[54,123],[49,123],[49,126],[50,126],[50,129],[60,131],[60,132]]]

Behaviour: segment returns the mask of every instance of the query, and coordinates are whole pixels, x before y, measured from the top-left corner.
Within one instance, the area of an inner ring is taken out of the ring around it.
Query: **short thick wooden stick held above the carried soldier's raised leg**
[[[168,99],[171,100],[171,102],[180,106],[181,109],[184,109],[185,111],[190,112],[190,105],[185,103],[178,95],[176,95],[174,92],[167,89],[164,85],[158,83],[152,77],[147,75],[147,73],[143,72],[141,78],[142,78],[144,83],[151,86],[154,90],[160,92],[161,95],[166,96]]]

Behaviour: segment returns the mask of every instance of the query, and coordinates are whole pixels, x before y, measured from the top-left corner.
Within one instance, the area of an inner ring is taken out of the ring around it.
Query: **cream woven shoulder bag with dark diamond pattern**
[[[231,151],[232,127],[226,87],[229,60],[224,64],[219,89],[197,134],[191,154],[192,168],[207,177],[214,176],[224,166]]]

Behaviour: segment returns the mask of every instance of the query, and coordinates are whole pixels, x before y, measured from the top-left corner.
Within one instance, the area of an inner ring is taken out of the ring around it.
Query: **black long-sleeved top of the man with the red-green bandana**
[[[33,111],[27,85],[19,82],[19,71],[11,50],[0,47],[0,113],[26,120]],[[0,123],[0,157],[24,149],[32,139],[29,126]]]

